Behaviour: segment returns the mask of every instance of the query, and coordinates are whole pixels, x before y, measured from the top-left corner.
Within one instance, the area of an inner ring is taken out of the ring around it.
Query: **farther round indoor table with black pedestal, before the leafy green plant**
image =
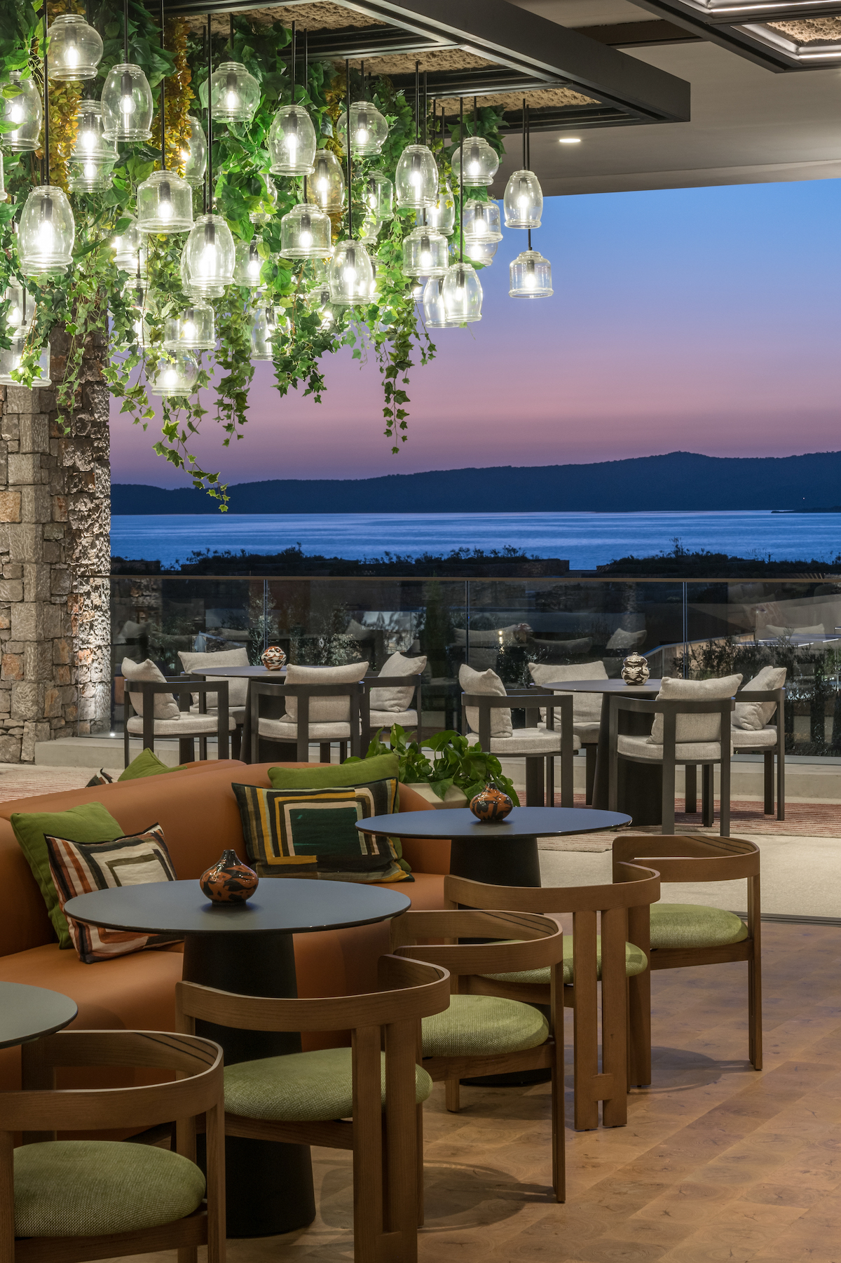
[[[487,885],[539,885],[538,837],[592,834],[626,825],[628,816],[592,807],[515,807],[500,823],[476,820],[468,807],[397,811],[356,822],[366,834],[393,837],[448,837],[450,871]]]

